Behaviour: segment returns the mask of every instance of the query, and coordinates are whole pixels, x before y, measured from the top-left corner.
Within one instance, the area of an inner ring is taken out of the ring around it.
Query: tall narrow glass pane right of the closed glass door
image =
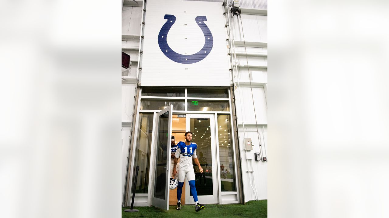
[[[222,191],[236,191],[235,163],[231,136],[230,115],[217,115],[219,138],[220,184]]]

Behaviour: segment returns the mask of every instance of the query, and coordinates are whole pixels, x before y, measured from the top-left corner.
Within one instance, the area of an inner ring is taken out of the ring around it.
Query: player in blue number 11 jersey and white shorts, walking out
[[[174,164],[173,164],[173,175],[177,173],[176,166],[178,158],[180,158],[179,170],[178,170],[178,186],[177,186],[177,210],[181,209],[181,195],[182,195],[182,187],[184,186],[185,176],[189,182],[189,186],[191,189],[191,193],[193,196],[193,200],[195,200],[195,211],[198,212],[205,208],[205,205],[202,205],[198,202],[197,198],[197,190],[195,185],[195,171],[193,170],[193,161],[198,166],[200,173],[203,172],[203,168],[200,166],[200,162],[198,161],[196,155],[197,145],[192,141],[193,133],[187,131],[185,133],[185,142],[179,142],[177,144],[177,150],[175,152]]]

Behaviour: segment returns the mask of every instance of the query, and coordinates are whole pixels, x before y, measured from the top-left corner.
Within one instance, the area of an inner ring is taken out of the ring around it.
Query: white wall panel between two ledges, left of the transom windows
[[[136,84],[122,83],[122,120],[131,121]]]

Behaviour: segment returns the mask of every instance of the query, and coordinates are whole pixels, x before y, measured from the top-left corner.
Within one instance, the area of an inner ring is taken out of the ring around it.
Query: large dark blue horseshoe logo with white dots
[[[165,24],[163,24],[161,30],[158,35],[158,45],[161,48],[163,54],[166,55],[170,60],[181,63],[181,64],[193,64],[203,60],[208,56],[209,52],[212,50],[212,46],[214,45],[214,38],[212,37],[212,33],[209,30],[208,26],[204,23],[207,21],[207,17],[205,16],[197,16],[196,23],[201,28],[204,34],[205,43],[203,48],[198,51],[196,54],[191,55],[182,55],[173,51],[172,48],[169,47],[168,42],[166,41],[168,32],[170,28],[172,28],[175,23],[175,16],[171,14],[165,14],[164,19],[167,19]]]

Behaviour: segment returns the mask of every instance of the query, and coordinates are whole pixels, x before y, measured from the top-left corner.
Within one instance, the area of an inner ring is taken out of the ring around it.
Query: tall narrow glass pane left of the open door
[[[136,193],[147,193],[149,189],[149,165],[152,136],[152,119],[154,114],[140,114],[137,147],[135,150],[135,164],[139,166]],[[133,176],[135,182],[135,175]]]

